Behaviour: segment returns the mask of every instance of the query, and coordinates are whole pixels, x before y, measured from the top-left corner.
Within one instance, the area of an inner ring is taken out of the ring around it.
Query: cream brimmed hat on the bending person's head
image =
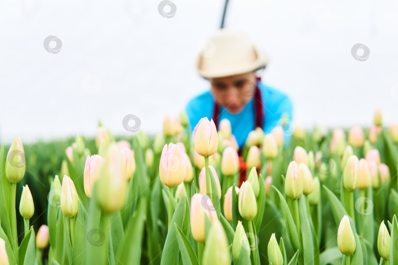
[[[227,77],[265,68],[268,56],[249,36],[237,30],[223,29],[213,35],[199,52],[195,67],[203,78]]]

